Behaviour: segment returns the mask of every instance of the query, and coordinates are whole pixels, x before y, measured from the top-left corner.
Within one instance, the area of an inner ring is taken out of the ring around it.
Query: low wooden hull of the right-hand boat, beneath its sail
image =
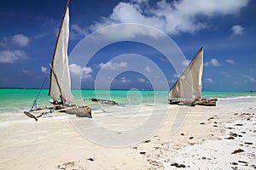
[[[206,106],[216,106],[216,101],[218,99],[195,99],[195,100],[186,100],[186,99],[169,99],[170,105],[206,105]]]

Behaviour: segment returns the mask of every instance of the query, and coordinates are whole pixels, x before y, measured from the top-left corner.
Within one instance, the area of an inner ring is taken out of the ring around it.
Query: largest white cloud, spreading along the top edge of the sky
[[[127,3],[118,3],[112,14],[102,17],[102,20],[90,26],[90,30],[95,31],[119,23],[138,23],[154,26],[172,35],[181,32],[193,33],[207,28],[208,20],[211,18],[238,14],[248,2],[249,0],[160,0],[149,3],[148,0],[131,0]]]

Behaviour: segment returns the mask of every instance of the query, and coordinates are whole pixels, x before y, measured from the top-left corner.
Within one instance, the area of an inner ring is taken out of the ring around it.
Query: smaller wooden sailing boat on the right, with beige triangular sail
[[[215,106],[217,99],[202,99],[203,48],[195,55],[169,92],[171,105]]]

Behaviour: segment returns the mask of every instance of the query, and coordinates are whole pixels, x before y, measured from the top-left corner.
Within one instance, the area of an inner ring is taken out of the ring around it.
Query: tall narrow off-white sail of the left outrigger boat
[[[58,39],[55,44],[55,53],[51,63],[49,95],[52,99],[63,99],[69,105],[73,101],[71,93],[70,73],[68,68],[67,47],[69,37],[69,12],[65,10]]]

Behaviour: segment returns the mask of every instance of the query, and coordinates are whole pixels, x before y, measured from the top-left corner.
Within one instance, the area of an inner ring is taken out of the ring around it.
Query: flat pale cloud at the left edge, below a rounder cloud
[[[4,50],[0,51],[0,63],[14,63],[18,59],[28,59],[23,50]]]

